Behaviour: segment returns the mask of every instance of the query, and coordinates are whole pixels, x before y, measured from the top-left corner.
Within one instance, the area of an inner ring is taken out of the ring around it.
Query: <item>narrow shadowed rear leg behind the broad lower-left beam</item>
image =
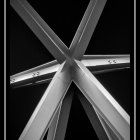
[[[49,127],[47,140],[64,140],[73,93],[68,91]]]

